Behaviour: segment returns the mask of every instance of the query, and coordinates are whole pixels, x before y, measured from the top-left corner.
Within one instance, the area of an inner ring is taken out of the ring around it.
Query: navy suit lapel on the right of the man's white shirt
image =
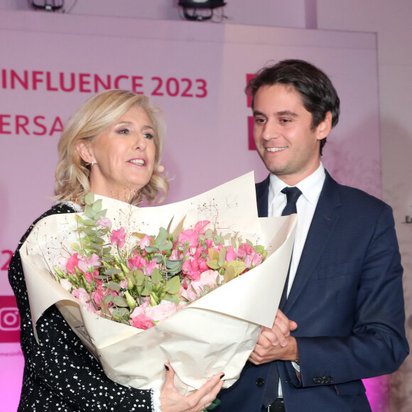
[[[323,184],[318,205],[316,206],[315,214],[310,224],[302,256],[300,256],[293,286],[283,307],[285,313],[293,306],[300,292],[305,288],[340,216],[341,202],[339,185],[330,177],[329,173],[325,173],[325,183]]]

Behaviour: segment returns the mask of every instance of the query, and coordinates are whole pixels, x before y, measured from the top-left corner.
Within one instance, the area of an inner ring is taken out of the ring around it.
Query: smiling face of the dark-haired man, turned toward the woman
[[[293,87],[261,87],[254,97],[254,141],[266,168],[288,185],[312,174],[319,167],[320,140],[330,131],[328,119],[312,129],[312,114]]]

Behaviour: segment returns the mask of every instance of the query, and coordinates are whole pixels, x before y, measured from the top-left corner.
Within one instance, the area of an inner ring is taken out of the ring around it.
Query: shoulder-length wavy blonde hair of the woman
[[[105,90],[90,97],[72,116],[58,143],[59,161],[55,174],[55,199],[79,203],[90,192],[90,164],[82,160],[76,147],[80,140],[92,141],[123,116],[131,107],[142,107],[151,119],[156,146],[155,166],[151,179],[131,201],[136,204],[146,197],[149,203],[159,192],[168,193],[168,181],[158,172],[166,124],[160,107],[150,104],[148,97],[127,90]]]

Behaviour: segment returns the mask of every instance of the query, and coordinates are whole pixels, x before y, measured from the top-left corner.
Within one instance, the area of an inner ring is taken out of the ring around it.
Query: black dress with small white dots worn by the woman
[[[39,219],[70,212],[75,212],[71,205],[55,205]],[[55,305],[38,320],[40,344],[36,342],[18,249],[9,265],[9,281],[21,316],[20,340],[25,359],[18,412],[153,411],[153,391],[131,389],[107,378]]]

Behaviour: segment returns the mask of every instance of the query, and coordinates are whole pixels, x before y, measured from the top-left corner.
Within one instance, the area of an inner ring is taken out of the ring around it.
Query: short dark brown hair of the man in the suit
[[[293,87],[302,96],[303,106],[312,114],[312,128],[332,113],[332,127],[337,125],[340,114],[340,100],[329,77],[322,70],[304,60],[282,60],[276,65],[261,69],[246,87],[254,108],[256,92],[263,86],[286,85]],[[326,138],[320,141],[320,154]]]

